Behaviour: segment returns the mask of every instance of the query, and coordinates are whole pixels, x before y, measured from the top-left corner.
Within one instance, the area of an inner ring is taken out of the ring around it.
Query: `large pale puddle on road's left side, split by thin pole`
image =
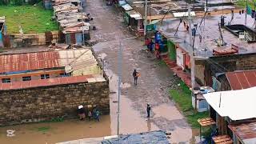
[[[112,70],[106,70],[106,74],[110,79],[110,91],[118,92],[118,76]],[[130,87],[129,83],[123,83],[122,88]],[[142,118],[137,110],[132,107],[132,102],[125,95],[121,95],[120,101],[120,118],[119,132],[120,134],[134,134],[152,130],[159,130],[153,122]],[[118,128],[118,93],[110,94],[110,119],[111,134],[117,134]]]

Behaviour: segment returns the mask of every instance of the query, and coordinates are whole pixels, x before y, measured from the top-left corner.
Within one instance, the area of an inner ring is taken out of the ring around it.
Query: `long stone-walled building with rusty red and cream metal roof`
[[[106,74],[90,48],[0,55],[0,125],[109,113]],[[7,103],[11,103],[10,105]]]

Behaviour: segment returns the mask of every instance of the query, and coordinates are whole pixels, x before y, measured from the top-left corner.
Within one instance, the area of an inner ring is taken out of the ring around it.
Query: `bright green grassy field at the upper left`
[[[51,20],[52,10],[40,6],[0,6],[0,16],[6,16],[9,34],[18,34],[19,26],[24,34],[44,33],[58,30],[58,24]]]

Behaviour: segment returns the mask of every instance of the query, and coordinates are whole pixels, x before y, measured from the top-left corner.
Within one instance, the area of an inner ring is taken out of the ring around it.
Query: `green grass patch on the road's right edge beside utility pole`
[[[192,106],[191,91],[184,82],[179,82],[178,90],[170,90],[170,98],[174,100],[182,110],[187,122],[192,128],[199,128],[198,118],[206,118],[209,116],[208,112],[196,112]]]

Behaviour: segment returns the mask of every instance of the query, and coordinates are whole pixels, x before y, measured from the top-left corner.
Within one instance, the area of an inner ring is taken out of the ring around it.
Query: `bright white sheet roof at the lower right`
[[[208,104],[222,117],[242,120],[256,118],[256,86],[243,90],[203,94]]]

